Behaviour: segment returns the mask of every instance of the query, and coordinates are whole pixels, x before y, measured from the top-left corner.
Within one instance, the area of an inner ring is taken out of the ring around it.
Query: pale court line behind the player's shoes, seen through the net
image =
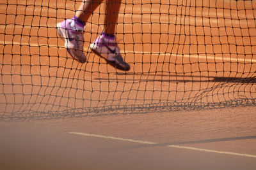
[[[38,43],[20,43],[20,42],[12,42],[12,41],[0,41],[0,45],[28,45],[28,46],[49,46],[49,47],[63,47],[58,45],[47,45],[47,44],[38,44]],[[84,48],[84,52],[88,49]],[[190,55],[190,54],[175,54],[175,53],[156,53],[156,52],[139,52],[139,51],[131,51],[131,50],[120,50],[120,53],[140,53],[147,55],[159,55],[161,57],[182,57],[189,59],[205,59],[205,60],[220,60],[220,61],[230,61],[230,62],[241,62],[244,64],[256,63],[256,59],[240,59],[240,58],[231,58],[231,57],[216,57],[213,55]]]

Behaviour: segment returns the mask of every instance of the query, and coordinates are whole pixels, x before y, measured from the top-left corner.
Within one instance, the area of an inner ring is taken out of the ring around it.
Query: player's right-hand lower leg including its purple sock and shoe
[[[104,30],[90,45],[90,48],[116,69],[129,71],[130,66],[122,58],[115,40],[116,22],[120,4],[121,0],[107,0]]]

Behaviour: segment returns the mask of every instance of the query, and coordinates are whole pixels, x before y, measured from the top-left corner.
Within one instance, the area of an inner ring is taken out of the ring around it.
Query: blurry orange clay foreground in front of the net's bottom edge
[[[1,122],[0,167],[255,169],[255,122],[255,107]]]

